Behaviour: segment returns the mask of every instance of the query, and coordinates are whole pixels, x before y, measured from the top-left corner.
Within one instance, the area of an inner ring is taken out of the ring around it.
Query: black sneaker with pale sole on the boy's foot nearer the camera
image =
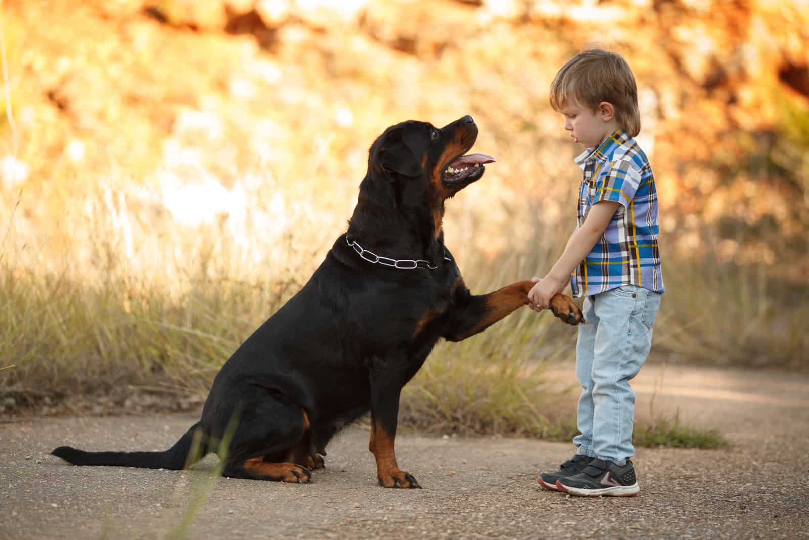
[[[594,459],[578,475],[558,479],[557,488],[582,497],[631,497],[641,491],[635,479],[635,467],[629,459],[624,466]]]

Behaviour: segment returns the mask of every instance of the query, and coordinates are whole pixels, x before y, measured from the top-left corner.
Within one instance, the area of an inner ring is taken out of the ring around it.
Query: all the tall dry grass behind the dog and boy
[[[23,264],[36,254],[2,251],[0,368],[15,365],[0,371],[6,392],[135,383],[204,394],[239,343],[303,285],[335,232],[312,240],[320,247],[311,251],[290,238],[274,246],[287,250],[286,264],[271,255],[251,266],[221,226],[196,234],[175,227],[161,240],[159,230],[171,230],[167,221],[153,221],[149,230],[146,220],[129,219],[144,227],[138,235],[155,243],[149,256],[163,266],[144,271],[145,263],[121,253],[100,217],[98,230],[85,231],[94,263],[65,259],[56,272]],[[548,268],[564,236],[553,238],[521,255],[487,259],[474,247],[455,255],[472,291],[483,293]],[[800,324],[807,307],[795,302],[796,290],[773,289],[766,270],[671,261],[655,350],[675,361],[805,368],[809,347]],[[572,358],[574,340],[574,329],[550,314],[521,310],[460,344],[438,344],[405,390],[403,418],[438,432],[552,437],[558,418],[546,405],[559,389],[542,368]]]

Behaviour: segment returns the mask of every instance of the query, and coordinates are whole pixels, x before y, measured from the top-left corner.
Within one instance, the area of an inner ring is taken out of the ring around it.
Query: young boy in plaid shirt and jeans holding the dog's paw
[[[551,106],[587,150],[576,158],[584,175],[578,226],[565,251],[528,293],[533,310],[549,306],[570,280],[585,297],[578,327],[576,454],[560,470],[540,475],[547,489],[577,496],[633,496],[640,491],[634,454],[635,393],[629,380],[649,353],[663,293],[658,251],[658,201],[640,131],[637,86],[621,55],[588,49],[553,79]]]

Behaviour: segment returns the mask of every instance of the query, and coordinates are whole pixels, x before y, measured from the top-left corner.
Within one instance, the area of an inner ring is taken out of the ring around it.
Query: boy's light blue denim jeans
[[[636,285],[621,285],[584,300],[586,323],[578,326],[576,377],[577,454],[624,465],[635,449],[632,427],[635,392],[629,381],[641,370],[652,342],[660,294]]]

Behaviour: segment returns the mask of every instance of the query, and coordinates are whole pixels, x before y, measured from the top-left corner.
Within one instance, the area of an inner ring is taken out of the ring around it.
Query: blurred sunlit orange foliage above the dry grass
[[[374,138],[467,113],[498,163],[449,205],[447,239],[530,251],[574,224],[549,83],[598,42],[638,81],[664,256],[809,272],[802,0],[6,0],[2,19],[2,249],[42,268],[95,264],[103,236],[141,270],[205,243],[252,275],[311,269]]]

